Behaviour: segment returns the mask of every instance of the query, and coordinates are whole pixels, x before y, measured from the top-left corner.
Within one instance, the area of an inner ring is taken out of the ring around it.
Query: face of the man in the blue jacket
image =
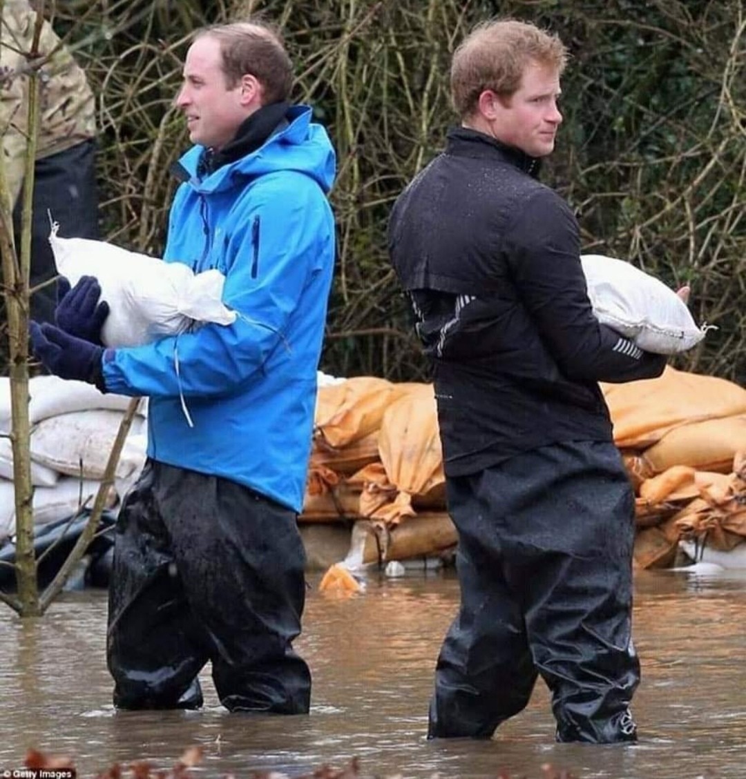
[[[176,96],[176,105],[186,115],[189,140],[213,149],[231,141],[250,113],[242,101],[242,83],[228,88],[221,63],[217,39],[197,38],[186,53],[184,81]]]

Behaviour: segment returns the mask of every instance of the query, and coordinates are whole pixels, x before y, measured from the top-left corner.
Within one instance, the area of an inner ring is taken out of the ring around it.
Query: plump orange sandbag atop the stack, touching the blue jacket
[[[319,387],[316,397],[315,435],[325,444],[341,448],[359,441],[380,427],[388,405],[406,385],[373,376],[355,376]]]

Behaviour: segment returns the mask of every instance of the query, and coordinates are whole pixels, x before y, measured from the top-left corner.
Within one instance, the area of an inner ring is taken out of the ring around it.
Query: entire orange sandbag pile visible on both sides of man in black
[[[635,486],[636,564],[673,566],[682,539],[720,551],[746,541],[746,390],[670,366],[601,387]],[[454,547],[431,385],[320,386],[300,520],[352,520],[358,564]]]

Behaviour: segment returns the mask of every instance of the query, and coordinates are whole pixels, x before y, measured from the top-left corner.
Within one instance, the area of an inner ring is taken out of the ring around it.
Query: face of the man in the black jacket
[[[523,72],[521,86],[511,97],[497,97],[493,136],[515,146],[530,157],[546,157],[562,122],[557,108],[560,74],[550,65],[531,62]]]

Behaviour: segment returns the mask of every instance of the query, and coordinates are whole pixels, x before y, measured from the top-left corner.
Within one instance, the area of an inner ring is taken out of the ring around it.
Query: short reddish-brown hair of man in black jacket
[[[567,48],[557,35],[518,19],[477,25],[451,61],[451,99],[458,115],[472,115],[484,90],[510,97],[521,86],[529,62],[550,65],[561,73],[567,65]]]

